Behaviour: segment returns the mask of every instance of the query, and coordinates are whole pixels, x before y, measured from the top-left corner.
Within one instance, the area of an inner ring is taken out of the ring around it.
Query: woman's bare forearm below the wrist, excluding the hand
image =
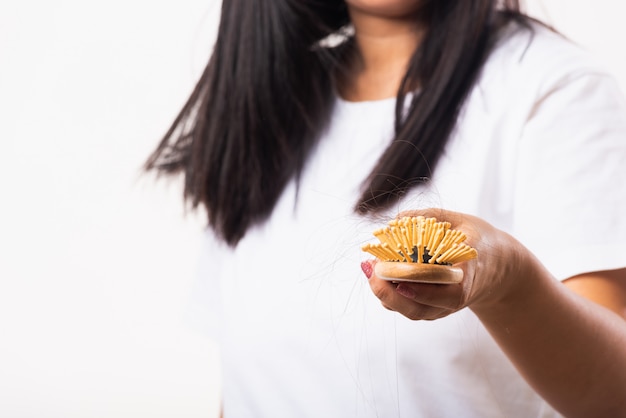
[[[473,306],[526,380],[567,416],[626,416],[626,321],[532,260],[508,297]]]

